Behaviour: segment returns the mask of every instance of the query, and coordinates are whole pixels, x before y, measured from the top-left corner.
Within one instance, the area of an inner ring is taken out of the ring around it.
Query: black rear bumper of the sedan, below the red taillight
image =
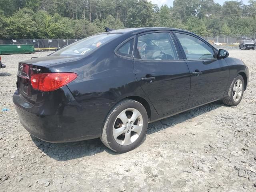
[[[51,94],[54,95],[61,98],[57,104],[47,97],[41,104],[30,104],[18,92],[14,93],[16,112],[28,132],[47,142],[73,142],[100,136],[110,104],[81,106],[66,86]]]

